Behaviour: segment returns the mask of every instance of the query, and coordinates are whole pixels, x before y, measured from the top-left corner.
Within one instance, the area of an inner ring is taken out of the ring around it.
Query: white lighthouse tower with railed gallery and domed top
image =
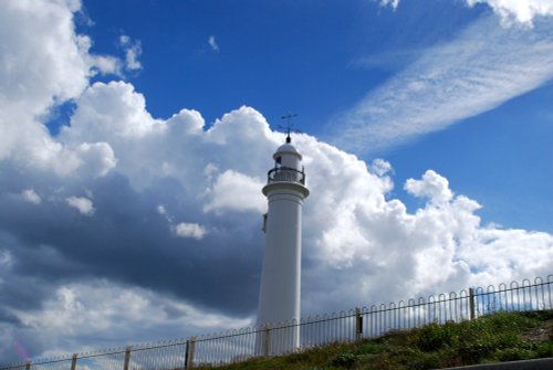
[[[274,328],[263,337],[265,355],[290,352],[300,346],[299,326],[276,329],[276,324],[299,324],[300,320],[302,204],[310,193],[301,166],[302,155],[291,144],[290,126],[286,142],[276,149],[273,158],[274,168],[269,171],[262,190],[269,210],[263,223],[265,251],[258,325]]]

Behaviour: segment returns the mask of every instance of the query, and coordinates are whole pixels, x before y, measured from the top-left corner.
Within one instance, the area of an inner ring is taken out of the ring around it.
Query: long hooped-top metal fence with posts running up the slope
[[[553,309],[553,275],[533,282],[477,287],[460,293],[373,305],[219,334],[0,366],[0,370],[181,370],[220,366],[252,357],[284,355],[332,342],[379,337],[430,323],[462,321],[497,311]],[[301,345],[293,342],[300,326]]]

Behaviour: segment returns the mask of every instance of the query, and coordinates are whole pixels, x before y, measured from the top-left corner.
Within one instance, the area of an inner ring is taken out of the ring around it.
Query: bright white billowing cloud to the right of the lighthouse
[[[302,148],[305,156],[313,152]],[[344,169],[353,163],[333,160]],[[409,213],[398,200],[385,199],[390,188],[384,178],[342,172],[343,183],[352,183],[344,188],[332,183],[328,170],[307,167],[316,193],[305,202],[304,255],[314,261],[303,283],[307,313],[336,302],[347,308],[549,274],[543,261],[553,261],[553,235],[482,226],[480,204],[455,195],[435,171],[406,182],[410,193],[428,199]],[[530,245],[539,257],[525,252]],[[332,276],[332,283],[315,276]]]

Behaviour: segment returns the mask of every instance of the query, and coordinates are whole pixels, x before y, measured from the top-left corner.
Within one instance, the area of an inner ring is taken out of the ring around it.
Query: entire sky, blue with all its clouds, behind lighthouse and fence
[[[553,273],[551,0],[0,8],[0,363],[252,325],[289,112],[304,316]]]

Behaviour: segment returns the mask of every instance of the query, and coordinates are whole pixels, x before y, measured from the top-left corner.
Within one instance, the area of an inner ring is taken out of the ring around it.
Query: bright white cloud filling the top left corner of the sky
[[[114,161],[104,145],[56,141],[41,121],[53,105],[79,97],[97,68],[96,56],[88,54],[90,39],[74,32],[73,12],[80,7],[80,1],[2,1],[0,159],[59,176],[87,161],[104,162],[97,170],[105,175]]]

